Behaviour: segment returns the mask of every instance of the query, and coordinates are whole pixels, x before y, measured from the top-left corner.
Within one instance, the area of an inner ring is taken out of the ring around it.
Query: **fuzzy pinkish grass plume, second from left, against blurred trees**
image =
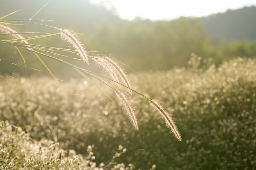
[[[71,31],[66,29],[62,29],[61,39],[65,40],[70,45],[72,45],[74,49],[78,51],[79,57],[83,60],[83,62],[86,62],[89,65],[88,55],[87,55],[87,52],[85,51],[85,47],[75,33],[72,33]]]

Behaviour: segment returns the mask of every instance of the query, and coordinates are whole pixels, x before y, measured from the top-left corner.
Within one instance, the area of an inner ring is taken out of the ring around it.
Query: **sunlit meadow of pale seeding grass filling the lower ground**
[[[129,75],[136,91],[164,103],[182,142],[136,93],[139,131],[85,79],[6,78],[12,86],[0,82],[0,168],[256,169],[256,60],[216,68],[192,55],[189,64]]]

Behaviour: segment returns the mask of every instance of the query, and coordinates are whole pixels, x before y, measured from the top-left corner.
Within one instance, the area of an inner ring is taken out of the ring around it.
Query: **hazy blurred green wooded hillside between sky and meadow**
[[[12,2],[13,6],[10,5]],[[36,3],[33,0],[22,2],[3,0],[1,3],[6,5],[0,7],[0,16],[23,7],[32,6],[33,9],[23,9],[7,18],[29,19],[47,2],[48,0]],[[191,53],[196,53],[204,59],[213,58],[213,63],[217,66],[222,61],[228,61],[238,56],[255,57],[256,41],[254,35],[243,34],[255,32],[251,31],[255,29],[255,26],[247,24],[247,22],[254,23],[255,9],[256,7],[248,7],[230,10],[227,13],[199,19],[182,17],[171,21],[152,22],[136,18],[133,21],[128,21],[121,20],[115,15],[115,11],[108,11],[100,5],[90,4],[89,0],[77,1],[76,3],[67,0],[54,0],[37,13],[33,19],[43,19],[45,21],[42,24],[72,29],[81,33],[83,34],[80,35],[82,42],[85,43],[88,51],[98,51],[97,53],[104,55],[111,54],[139,72],[169,70],[173,66],[187,66]],[[239,20],[239,18],[246,17],[248,19]],[[227,20],[230,22],[226,22]],[[239,24],[242,21],[244,24]],[[238,27],[232,24],[234,22],[239,24],[243,36],[235,36],[239,31]],[[15,27],[20,32],[51,32],[47,27],[40,25],[16,25]],[[219,27],[222,28],[222,32]],[[234,27],[236,29],[233,29]],[[212,33],[217,29],[217,33]],[[228,31],[225,31],[226,29]],[[231,31],[235,31],[230,36],[234,37],[236,41],[228,42],[227,40],[234,40],[226,36]],[[1,36],[1,38],[4,37]],[[247,42],[246,40],[251,41]],[[65,42],[52,37],[31,41],[31,43],[68,48]],[[13,46],[1,44],[0,50],[2,51],[0,54],[1,73],[11,74],[16,71],[21,75],[46,75],[45,72],[47,71],[43,65],[35,57],[31,57],[31,53],[22,51],[27,61],[27,67],[40,71],[31,71],[31,69],[21,67],[20,64],[23,64],[23,61]],[[65,69],[67,70],[65,77],[73,77],[72,69],[63,68],[62,64],[51,60],[44,60],[55,75],[58,75],[60,69]]]

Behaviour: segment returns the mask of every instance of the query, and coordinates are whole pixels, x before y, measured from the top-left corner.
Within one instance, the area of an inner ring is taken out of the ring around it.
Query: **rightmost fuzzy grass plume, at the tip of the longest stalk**
[[[174,121],[172,120],[171,115],[166,110],[164,110],[163,107],[154,99],[151,100],[150,105],[154,110],[160,113],[160,115],[166,122],[166,126],[168,128],[171,128],[171,131],[173,132],[174,136],[179,141],[181,141],[180,132],[178,131],[176,125],[174,124]]]

